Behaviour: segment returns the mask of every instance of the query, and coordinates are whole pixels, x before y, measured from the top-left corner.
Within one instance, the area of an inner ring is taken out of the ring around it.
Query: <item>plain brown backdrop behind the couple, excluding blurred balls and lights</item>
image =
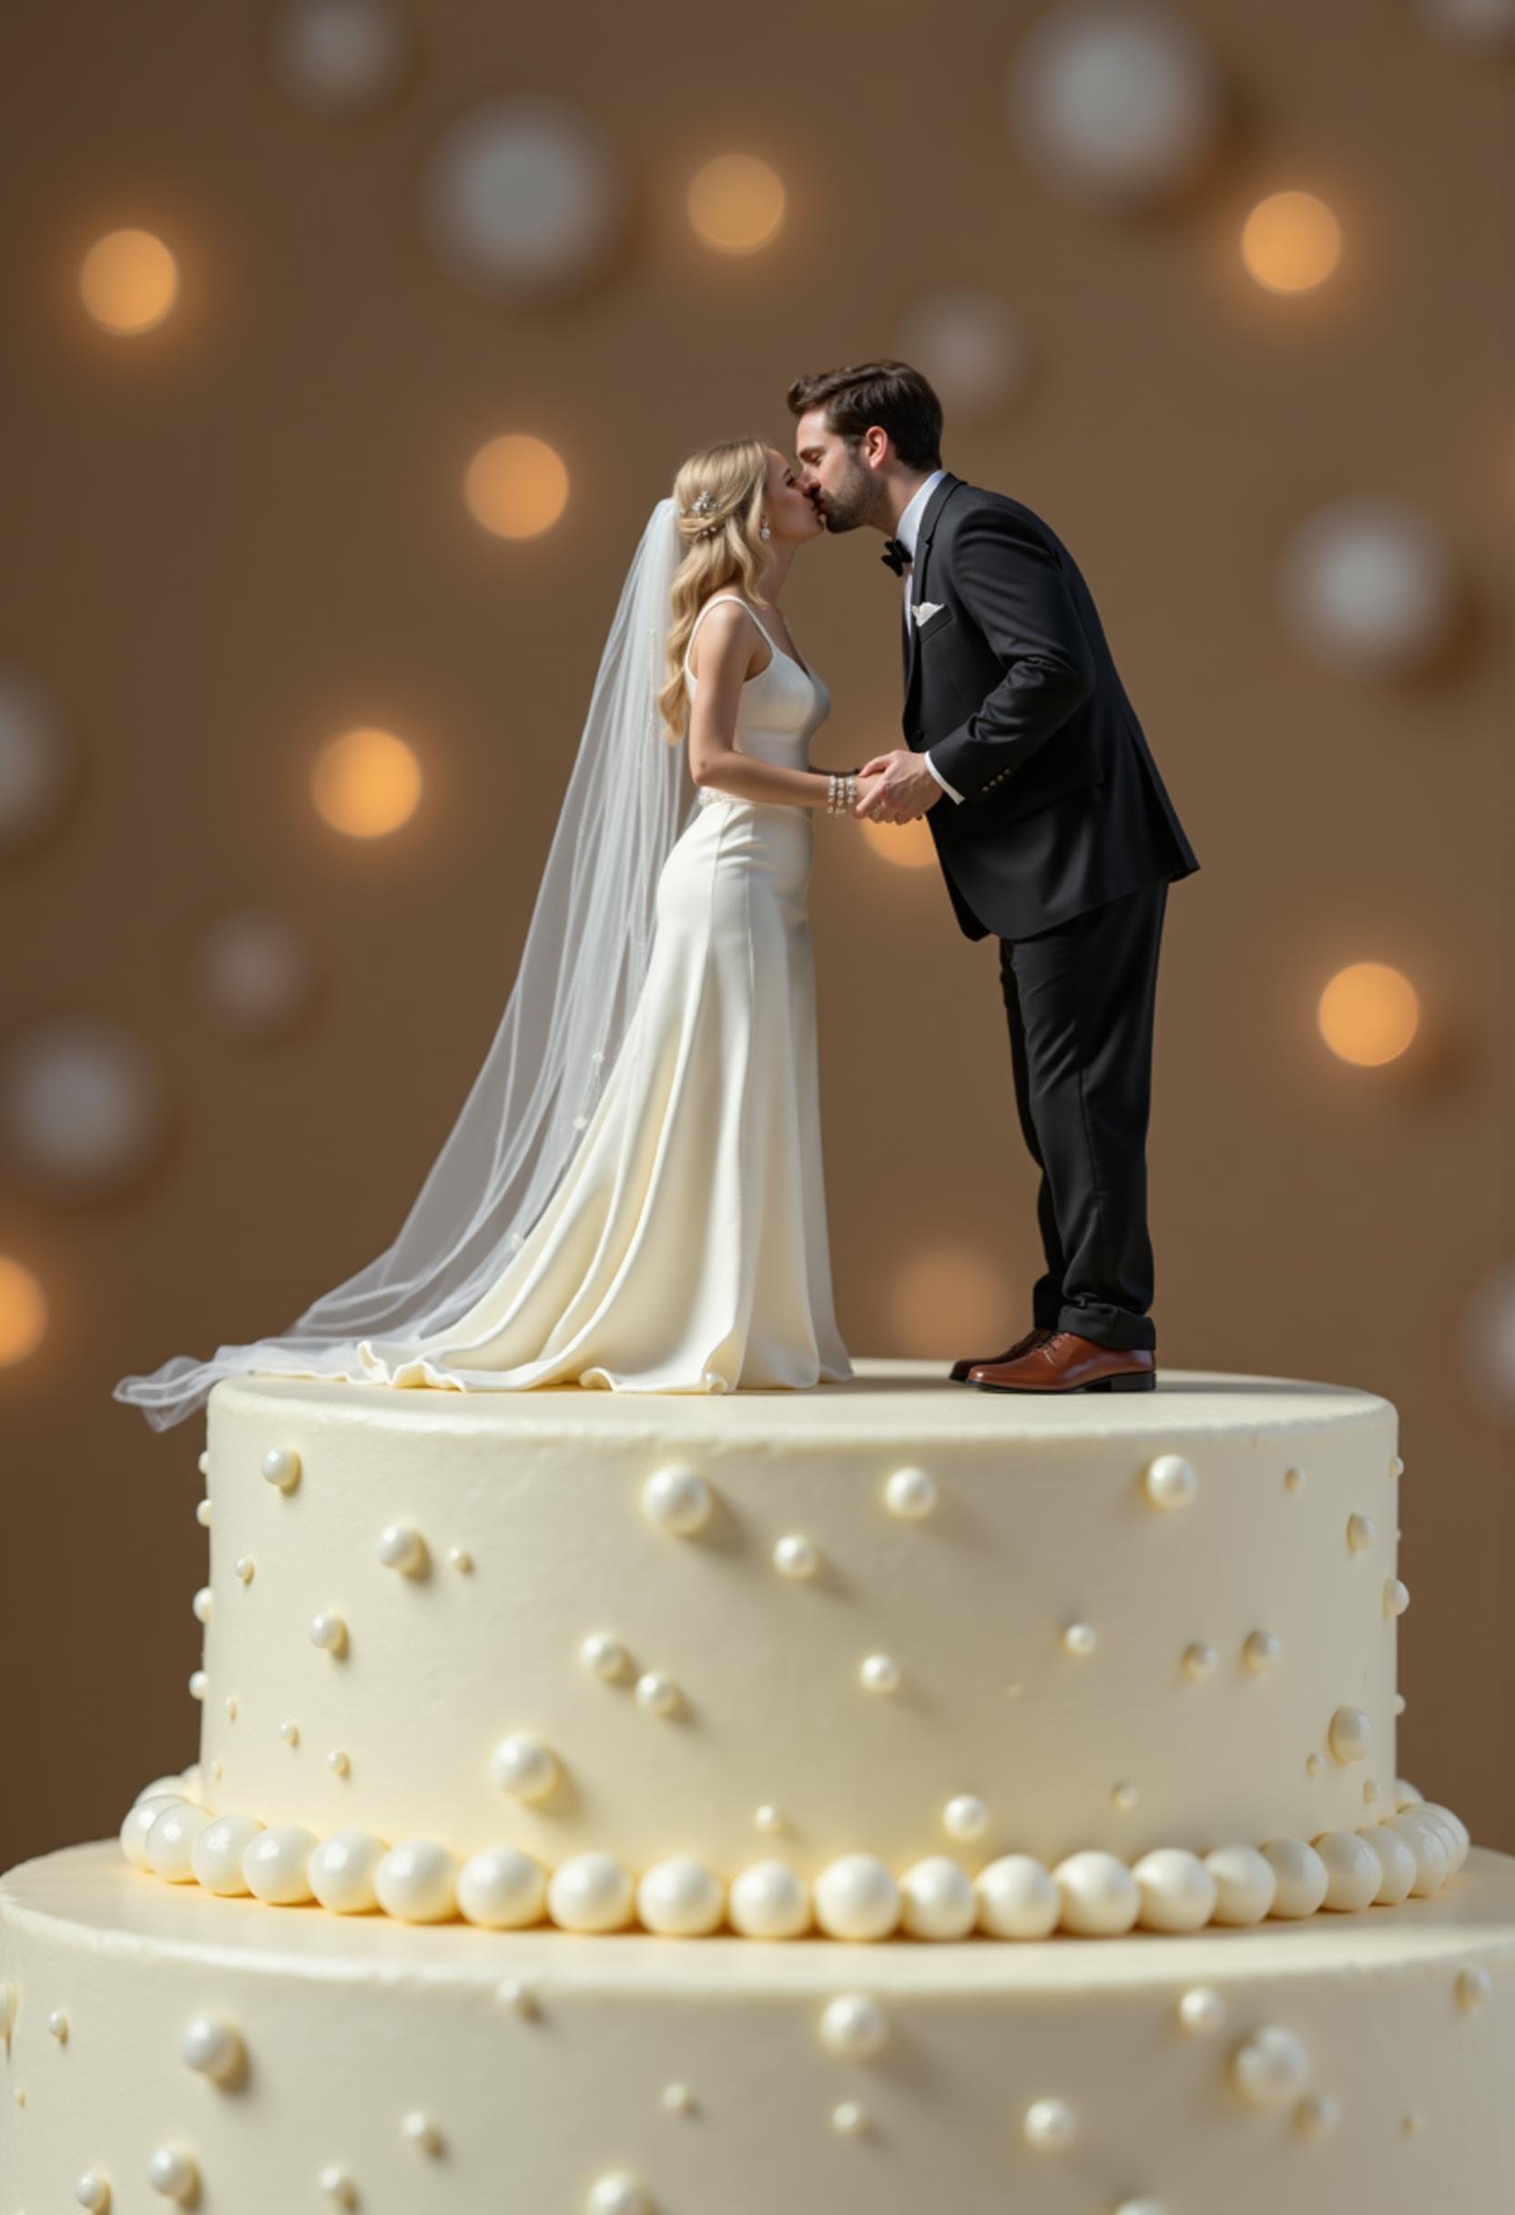
[[[427,0],[403,93],[323,124],[270,82],[257,7],[7,7],[4,656],[60,696],[86,777],[0,877],[4,1039],[113,1014],[177,1121],[111,1205],[0,1185],[0,1249],[53,1305],[0,1376],[0,1865],[113,1830],[195,1754],[199,1424],[151,1433],[113,1380],[275,1331],[388,1243],[509,990],[651,501],[702,441],[782,441],[795,372],[890,350],[948,286],[1010,301],[1037,377],[992,430],[948,423],[946,461],[1072,545],[1203,864],[1169,902],[1158,995],[1161,1356],[1398,1402],[1400,1765],[1515,1847],[1508,1438],[1457,1356],[1471,1289],[1515,1254],[1508,69],[1431,42],[1409,0],[1196,0],[1234,86],[1227,148],[1181,208],[1110,219],[1048,195],[1006,135],[1034,13]],[[618,268],[567,308],[467,295],[416,222],[439,128],[518,89],[574,100],[636,182]],[[791,195],[746,259],[682,213],[726,148]],[[1236,253],[1282,186],[1347,230],[1309,299],[1258,290]],[[78,303],[84,250],[120,224],[182,264],[144,341]],[[458,490],[507,430],[571,474],[563,523],[525,545],[487,538]],[[1457,549],[1473,620],[1435,678],[1349,682],[1282,636],[1282,543],[1347,492],[1420,503]],[[877,552],[824,540],[786,591],[837,702],[822,766],[897,738]],[[312,751],[348,722],[423,755],[394,839],[310,813]],[[959,937],[935,868],[824,817],[813,899],[844,1333],[983,1351],[1028,1320],[1037,1269],[994,941]],[[195,933],[244,904],[288,915],[326,986],[261,1050],[188,988]],[[1406,970],[1426,1008],[1382,1072],[1313,1026],[1356,959]]]

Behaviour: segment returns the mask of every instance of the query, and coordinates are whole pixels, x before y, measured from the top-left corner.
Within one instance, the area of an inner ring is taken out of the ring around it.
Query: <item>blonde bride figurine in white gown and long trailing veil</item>
[[[620,591],[489,1052],[394,1243],[281,1336],[113,1398],[162,1431],[219,1378],[771,1391],[846,1382],[806,888],[831,709],[777,611],[824,521],[758,439],[693,454]]]

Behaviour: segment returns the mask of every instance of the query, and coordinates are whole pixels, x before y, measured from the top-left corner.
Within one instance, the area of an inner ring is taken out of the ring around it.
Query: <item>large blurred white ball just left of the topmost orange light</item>
[[[609,144],[565,102],[481,100],[434,146],[421,217],[465,284],[512,299],[569,292],[609,261],[622,179]]]

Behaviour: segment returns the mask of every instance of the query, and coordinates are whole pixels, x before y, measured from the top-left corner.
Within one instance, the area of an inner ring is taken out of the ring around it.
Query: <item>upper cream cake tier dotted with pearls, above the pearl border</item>
[[[1395,1411],[246,1378],[208,1409],[202,1799],[547,1867],[1136,1861],[1393,1814]]]

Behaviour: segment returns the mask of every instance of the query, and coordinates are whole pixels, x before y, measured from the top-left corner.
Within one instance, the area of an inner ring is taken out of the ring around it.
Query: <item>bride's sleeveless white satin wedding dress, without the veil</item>
[[[831,696],[758,629],[771,658],[746,680],[735,746],[804,769]],[[693,698],[689,653],[684,684]],[[627,1037],[547,1209],[467,1313],[432,1338],[361,1340],[359,1376],[463,1391],[853,1376],[822,1185],[813,831],[811,808],[700,789],[658,877]]]

